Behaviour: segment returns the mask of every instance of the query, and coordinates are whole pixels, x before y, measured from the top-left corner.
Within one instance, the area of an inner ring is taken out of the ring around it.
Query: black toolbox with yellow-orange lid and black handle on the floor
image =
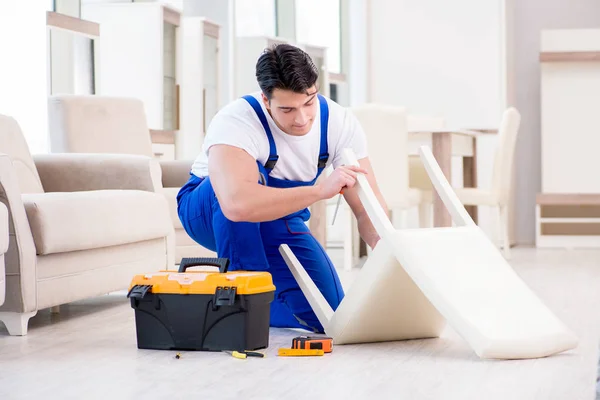
[[[197,266],[218,271],[186,271]],[[269,346],[271,274],[228,272],[225,258],[184,258],[178,272],[133,278],[137,346],[160,350],[257,350]]]

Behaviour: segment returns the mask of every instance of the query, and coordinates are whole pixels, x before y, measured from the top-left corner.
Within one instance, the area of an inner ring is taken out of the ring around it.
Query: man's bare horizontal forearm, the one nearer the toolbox
[[[230,199],[219,199],[225,216],[235,222],[272,221],[321,200],[317,186],[272,188],[243,183]]]

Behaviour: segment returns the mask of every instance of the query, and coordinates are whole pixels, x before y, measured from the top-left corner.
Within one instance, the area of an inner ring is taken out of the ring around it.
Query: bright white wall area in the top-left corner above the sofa
[[[17,120],[32,153],[48,151],[47,6],[0,1],[0,114]]]

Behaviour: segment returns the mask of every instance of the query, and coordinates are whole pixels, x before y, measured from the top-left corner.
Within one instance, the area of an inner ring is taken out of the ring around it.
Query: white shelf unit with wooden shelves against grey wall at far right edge
[[[538,247],[600,247],[600,29],[542,31]]]

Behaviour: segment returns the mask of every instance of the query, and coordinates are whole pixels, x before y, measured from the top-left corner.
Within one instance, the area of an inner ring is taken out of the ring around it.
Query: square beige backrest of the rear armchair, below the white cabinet
[[[98,95],[50,96],[48,119],[53,153],[152,156],[141,100]]]

